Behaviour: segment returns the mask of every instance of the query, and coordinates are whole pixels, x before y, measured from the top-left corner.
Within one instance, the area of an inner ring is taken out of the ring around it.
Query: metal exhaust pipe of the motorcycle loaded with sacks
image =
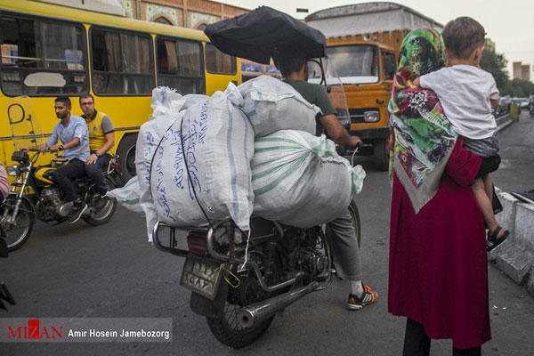
[[[264,301],[248,305],[241,309],[238,314],[239,325],[243,328],[251,328],[255,323],[271,318],[277,312],[283,311],[288,305],[295,303],[304,295],[312,293],[319,287],[318,282],[312,282],[305,287],[276,295]]]

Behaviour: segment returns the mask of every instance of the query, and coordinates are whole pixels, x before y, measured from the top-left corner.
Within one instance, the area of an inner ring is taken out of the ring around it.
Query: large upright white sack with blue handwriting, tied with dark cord
[[[226,93],[214,93],[180,112],[166,131],[150,167],[159,221],[204,226],[206,214],[210,221],[231,218],[249,230],[254,131],[237,107],[242,100],[235,85],[229,85]]]

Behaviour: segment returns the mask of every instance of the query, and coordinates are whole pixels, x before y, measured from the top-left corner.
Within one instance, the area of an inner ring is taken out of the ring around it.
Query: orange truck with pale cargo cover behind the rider
[[[383,2],[331,7],[305,21],[328,38],[327,76],[330,66],[343,83],[351,134],[372,147],[376,167],[386,170],[387,105],[402,39],[416,28],[443,26],[407,6]]]

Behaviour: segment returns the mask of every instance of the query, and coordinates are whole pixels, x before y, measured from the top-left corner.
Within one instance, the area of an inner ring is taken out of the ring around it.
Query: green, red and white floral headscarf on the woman
[[[436,94],[412,85],[417,77],[445,66],[443,47],[433,29],[416,29],[404,37],[388,106],[394,136],[390,164],[416,213],[438,190],[457,139]]]

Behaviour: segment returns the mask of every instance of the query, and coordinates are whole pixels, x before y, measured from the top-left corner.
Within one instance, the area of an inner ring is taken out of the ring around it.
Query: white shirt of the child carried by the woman
[[[490,99],[499,97],[495,79],[474,66],[445,67],[420,77],[420,85],[438,95],[450,125],[473,140],[486,139],[497,131]]]

